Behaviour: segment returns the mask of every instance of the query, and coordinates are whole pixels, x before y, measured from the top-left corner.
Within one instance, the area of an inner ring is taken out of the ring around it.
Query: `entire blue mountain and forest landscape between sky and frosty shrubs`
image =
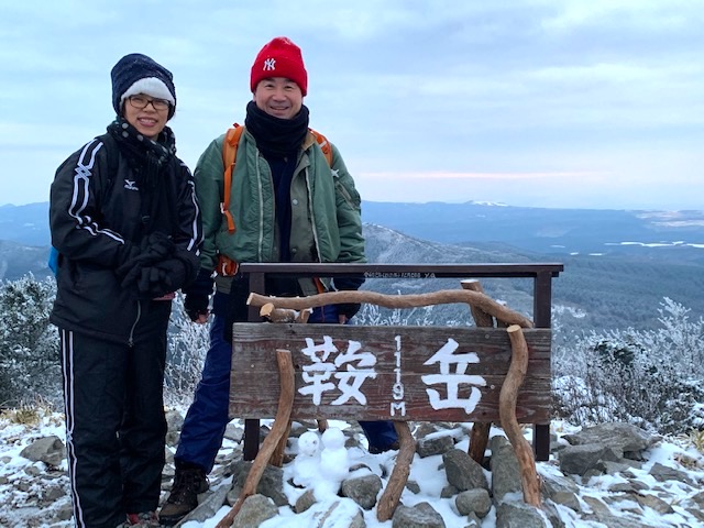
[[[48,204],[0,207],[0,279],[45,276]],[[572,329],[652,328],[670,297],[704,315],[704,211],[537,209],[492,204],[363,204],[370,262],[560,262],[556,314]],[[528,279],[482,279],[487,294],[530,312]],[[365,287],[415,293],[455,280],[375,279]],[[449,307],[447,320],[465,318]]]

